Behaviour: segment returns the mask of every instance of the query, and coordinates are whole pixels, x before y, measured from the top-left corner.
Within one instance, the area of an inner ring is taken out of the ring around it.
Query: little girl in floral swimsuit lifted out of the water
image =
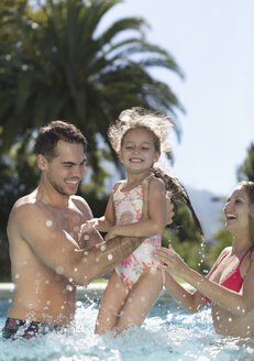
[[[163,273],[154,259],[161,245],[166,220],[166,189],[188,204],[177,179],[154,167],[162,151],[167,151],[168,118],[141,108],[123,111],[109,129],[112,147],[126,168],[126,179],[117,182],[106,214],[82,226],[82,231],[108,232],[106,241],[117,237],[145,237],[145,241],[113,271],[102,297],[96,333],[115,328],[117,333],[141,326],[162,291]],[[143,189],[148,185],[148,217],[142,217]],[[198,223],[198,220],[196,218]],[[200,225],[198,223],[199,229]]]

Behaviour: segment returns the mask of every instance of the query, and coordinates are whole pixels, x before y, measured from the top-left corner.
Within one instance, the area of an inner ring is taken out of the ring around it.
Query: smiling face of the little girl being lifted
[[[150,172],[161,153],[155,150],[153,134],[146,129],[129,130],[119,152],[120,160],[129,173]]]

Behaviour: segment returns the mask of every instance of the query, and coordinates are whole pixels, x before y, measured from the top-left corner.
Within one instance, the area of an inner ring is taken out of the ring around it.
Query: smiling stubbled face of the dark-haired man
[[[75,195],[86,168],[84,146],[79,143],[59,141],[56,150],[57,156],[47,162],[46,179],[57,193]]]

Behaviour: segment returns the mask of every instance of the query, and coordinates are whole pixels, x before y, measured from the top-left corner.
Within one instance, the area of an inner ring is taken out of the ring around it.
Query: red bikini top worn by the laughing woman
[[[235,270],[233,270],[229,275],[228,277],[225,277],[225,280],[220,283],[221,286],[224,286],[225,288],[229,288],[231,291],[235,291],[235,292],[240,292],[241,287],[242,287],[242,284],[243,284],[243,277],[240,273],[240,266],[244,260],[244,258],[246,256],[246,254],[251,251],[251,249],[253,248],[254,245],[250,247],[246,252],[243,254],[242,259],[240,260],[239,262],[239,265]],[[212,273],[217,270],[217,267],[219,266],[219,264],[221,264],[221,262],[224,260],[224,258],[229,254],[225,253],[222,259],[220,260],[220,262],[216,265],[214,270],[212,271]],[[211,274],[212,274],[211,273]],[[211,276],[211,274],[209,275],[209,277]],[[209,278],[208,277],[208,278]],[[205,297],[207,303],[208,304],[211,304],[211,299],[209,299],[208,297]]]

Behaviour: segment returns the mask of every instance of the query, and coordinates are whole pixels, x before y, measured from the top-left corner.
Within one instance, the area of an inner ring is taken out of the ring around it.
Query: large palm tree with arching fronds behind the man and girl
[[[96,166],[98,134],[108,142],[108,125],[121,110],[142,106],[166,114],[184,111],[169,86],[148,72],[159,67],[183,76],[165,50],[146,42],[143,19],[120,19],[99,32],[106,13],[121,0],[46,0],[36,8],[25,0],[14,2],[25,11],[22,18],[16,14],[19,41],[11,61],[1,56],[4,149],[46,121],[65,119],[87,135]]]

